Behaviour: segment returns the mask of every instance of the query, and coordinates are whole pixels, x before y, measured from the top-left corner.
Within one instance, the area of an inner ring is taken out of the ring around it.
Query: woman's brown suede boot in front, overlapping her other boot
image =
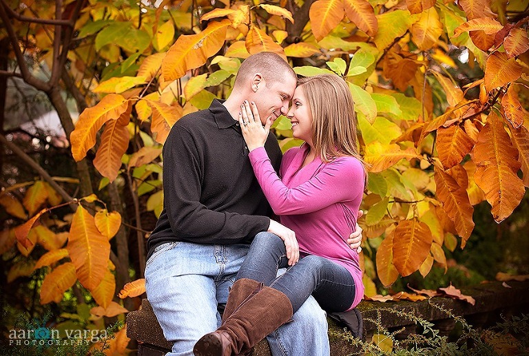
[[[244,355],[269,333],[292,317],[292,304],[284,293],[264,286],[242,303],[214,333],[196,342],[196,356]]]

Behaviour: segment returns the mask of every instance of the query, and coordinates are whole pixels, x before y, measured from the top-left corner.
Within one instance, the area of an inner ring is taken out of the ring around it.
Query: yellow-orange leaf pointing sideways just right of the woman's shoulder
[[[365,148],[364,160],[371,165],[370,172],[384,171],[403,158],[411,160],[412,158],[420,158],[420,156],[417,155],[415,149],[402,150],[396,143],[382,145],[378,141],[373,141]]]

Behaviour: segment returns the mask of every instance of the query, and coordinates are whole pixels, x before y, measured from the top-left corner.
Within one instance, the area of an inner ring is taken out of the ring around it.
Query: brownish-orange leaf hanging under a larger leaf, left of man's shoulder
[[[129,107],[132,109],[132,107]],[[129,131],[126,126],[119,125],[117,120],[105,124],[101,145],[94,159],[94,167],[103,177],[114,182],[121,168],[121,157],[129,147]]]

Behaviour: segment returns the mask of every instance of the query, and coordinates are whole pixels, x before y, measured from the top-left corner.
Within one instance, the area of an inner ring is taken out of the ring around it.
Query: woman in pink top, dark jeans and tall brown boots
[[[256,235],[222,325],[196,343],[195,355],[247,353],[311,294],[327,311],[349,311],[364,295],[358,254],[342,238],[354,230],[366,185],[349,87],[331,74],[301,78],[287,117],[293,136],[305,142],[284,154],[282,180],[263,147],[272,118],[262,127],[256,105],[245,102],[238,119],[262,191],[298,237],[301,258],[295,244],[285,247],[276,235]]]

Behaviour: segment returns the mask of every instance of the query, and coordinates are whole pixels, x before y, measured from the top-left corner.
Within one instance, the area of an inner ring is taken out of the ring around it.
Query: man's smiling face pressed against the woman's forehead
[[[259,109],[259,116],[263,125],[269,116],[272,116],[272,120],[275,121],[281,114],[287,114],[296,80],[292,76],[286,76],[282,82],[269,81],[268,85],[264,84],[259,84],[253,100]]]

